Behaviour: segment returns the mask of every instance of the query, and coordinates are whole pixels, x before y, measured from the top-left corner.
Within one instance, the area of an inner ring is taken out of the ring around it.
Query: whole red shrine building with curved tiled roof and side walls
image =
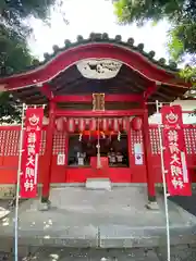
[[[46,104],[38,182],[48,199],[51,184],[147,183],[156,198],[161,183],[157,125],[148,117],[156,101],[170,103],[188,90],[174,63],[156,61],[144,45],[107,34],[77,37],[24,72],[0,79],[0,90],[27,105]],[[196,128],[184,125],[187,162],[194,182]],[[20,126],[0,127],[0,184],[15,184]]]

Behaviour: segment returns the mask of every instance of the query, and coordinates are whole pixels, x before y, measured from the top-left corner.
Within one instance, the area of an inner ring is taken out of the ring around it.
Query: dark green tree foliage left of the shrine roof
[[[50,23],[52,8],[58,0],[0,0],[0,75],[22,71],[33,62],[27,39],[33,34],[28,17]],[[0,92],[0,123],[20,122],[20,102],[8,92]]]

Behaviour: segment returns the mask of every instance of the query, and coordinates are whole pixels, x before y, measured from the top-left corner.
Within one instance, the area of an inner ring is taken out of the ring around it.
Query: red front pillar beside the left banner
[[[56,123],[56,103],[50,101],[49,123],[48,123],[47,134],[46,134],[46,152],[45,152],[46,166],[45,166],[44,181],[42,181],[41,202],[48,202],[49,195],[50,195],[54,123]]]

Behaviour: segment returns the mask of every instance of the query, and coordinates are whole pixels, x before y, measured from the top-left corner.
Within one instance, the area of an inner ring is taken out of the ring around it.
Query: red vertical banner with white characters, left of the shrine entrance
[[[26,110],[20,176],[21,198],[35,198],[37,196],[37,170],[42,117],[42,108],[29,108]]]

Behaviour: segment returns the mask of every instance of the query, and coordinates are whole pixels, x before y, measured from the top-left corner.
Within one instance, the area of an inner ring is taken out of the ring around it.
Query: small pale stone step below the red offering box
[[[86,179],[87,189],[105,189],[111,190],[111,181],[110,178],[87,178]]]

